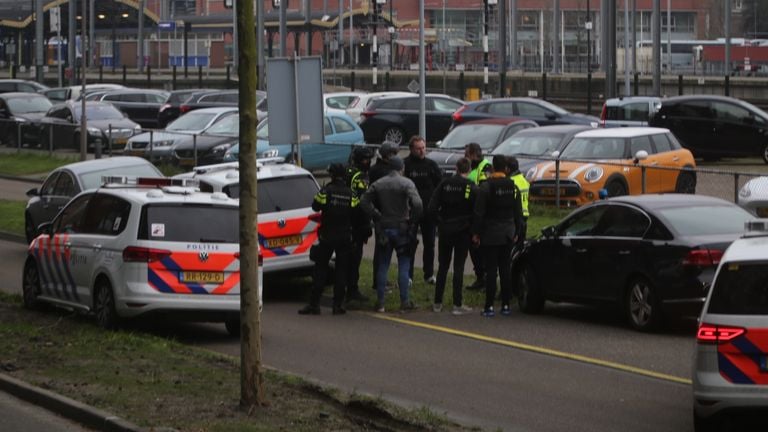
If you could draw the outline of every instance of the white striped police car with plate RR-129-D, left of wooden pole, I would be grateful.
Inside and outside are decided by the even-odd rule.
[[[193,181],[105,178],[29,245],[24,305],[93,313],[105,328],[170,314],[239,332],[239,206]]]

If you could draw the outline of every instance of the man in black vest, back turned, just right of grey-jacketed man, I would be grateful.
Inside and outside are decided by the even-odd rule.
[[[440,238],[437,243],[437,281],[435,303],[432,310],[443,310],[443,293],[453,255],[453,309],[454,315],[471,312],[464,306],[464,262],[471,241],[470,226],[477,196],[477,186],[469,179],[469,159],[456,161],[456,174],[442,181],[432,194],[428,210],[438,220]]]

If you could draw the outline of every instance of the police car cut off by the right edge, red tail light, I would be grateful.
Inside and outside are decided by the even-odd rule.
[[[699,318],[693,361],[696,431],[765,427],[768,415],[768,219],[726,250]],[[762,419],[762,420],[760,420]],[[745,424],[741,424],[745,423]]]

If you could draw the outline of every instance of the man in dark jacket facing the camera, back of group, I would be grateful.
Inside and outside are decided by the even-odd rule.
[[[432,198],[432,192],[441,181],[443,181],[443,171],[437,165],[437,162],[428,159],[427,142],[418,135],[411,137],[408,142],[408,148],[411,153],[403,161],[405,164],[405,176],[413,181],[416,190],[419,191],[419,197],[424,205],[429,203]],[[424,270],[424,281],[429,284],[435,283],[435,232],[437,226],[434,218],[425,213],[418,221],[417,227],[421,231],[422,242],[422,266]],[[411,233],[413,237],[413,246],[411,247],[411,269],[408,272],[409,281],[413,280],[413,263],[416,258],[416,232]]]

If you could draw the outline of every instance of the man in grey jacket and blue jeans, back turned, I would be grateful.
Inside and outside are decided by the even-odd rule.
[[[411,236],[416,221],[423,212],[419,192],[413,181],[403,177],[403,160],[393,156],[389,160],[392,171],[368,187],[360,206],[373,219],[376,227],[377,247],[381,259],[376,272],[376,310],[384,312],[384,288],[392,251],[397,253],[397,280],[400,288],[400,311],[413,309],[408,293],[408,271],[411,263]]]

